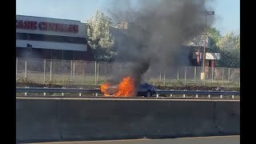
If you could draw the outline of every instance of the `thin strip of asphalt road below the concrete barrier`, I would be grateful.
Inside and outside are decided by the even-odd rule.
[[[194,138],[168,138],[168,139],[129,139],[113,141],[83,141],[83,142],[40,142],[34,144],[240,144],[240,135]]]

